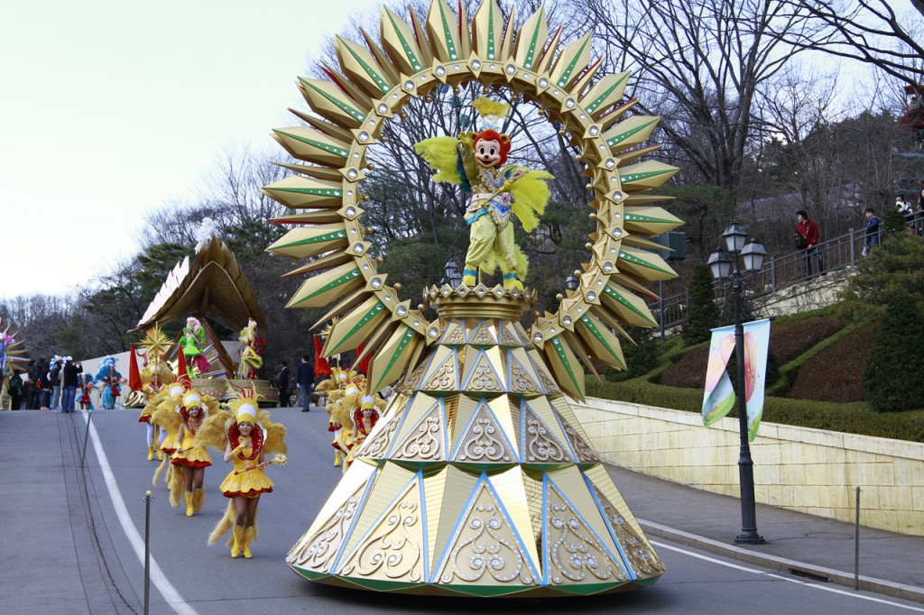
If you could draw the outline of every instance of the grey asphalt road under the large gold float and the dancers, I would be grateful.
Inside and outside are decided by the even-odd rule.
[[[75,416],[62,438],[79,451],[86,433],[84,416]],[[924,605],[892,597],[814,584],[771,573],[702,551],[654,541],[667,566],[655,585],[614,596],[556,599],[437,599],[342,590],[310,583],[293,573],[286,551],[308,529],[340,478],[332,466],[327,415],[298,409],[273,411],[286,425],[289,463],[271,466],[274,492],[260,503],[260,538],[251,544],[253,560],[232,560],[224,541],[207,546],[213,525],[225,510],[217,485],[230,467],[217,462],[206,470],[207,499],[201,513],[188,518],[171,508],[164,481],[152,488],[155,462],[146,460],[144,428],[132,411],[92,415],[87,464],[68,481],[68,500],[83,501],[91,517],[89,537],[75,537],[87,605],[75,597],[68,612],[141,612],[145,534],[145,492],[152,491],[152,613],[899,613],[924,612]],[[619,485],[617,485],[619,487]],[[624,493],[633,500],[644,493]],[[78,525],[75,525],[78,526]],[[83,547],[81,547],[83,545]],[[88,546],[89,545],[89,546]],[[91,557],[89,551],[95,552]],[[115,604],[115,607],[113,605]],[[43,609],[35,612],[45,615]]]

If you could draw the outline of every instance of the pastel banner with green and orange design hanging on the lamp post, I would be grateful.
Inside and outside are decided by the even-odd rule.
[[[770,320],[744,323],[745,404],[748,412],[748,440],[754,440],[763,414],[767,352],[770,348]],[[702,398],[702,422],[710,426],[735,407],[735,389],[725,367],[735,350],[735,327],[712,330],[706,388]]]

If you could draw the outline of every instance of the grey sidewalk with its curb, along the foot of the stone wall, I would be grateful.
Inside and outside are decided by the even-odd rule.
[[[737,498],[614,465],[606,469],[651,540],[663,537],[784,573],[855,586],[853,524],[758,504],[758,533],[766,543],[736,545],[741,532]],[[924,537],[862,525],[859,536],[860,589],[924,602]]]

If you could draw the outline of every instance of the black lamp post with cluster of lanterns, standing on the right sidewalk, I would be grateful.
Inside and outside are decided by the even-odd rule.
[[[738,431],[741,436],[741,450],[738,456],[738,480],[741,484],[741,534],[735,538],[737,543],[752,545],[762,544],[763,537],[757,533],[757,504],[754,500],[754,462],[750,456],[748,444],[748,408],[745,403],[745,332],[741,322],[741,269],[738,266],[740,257],[745,271],[754,273],[763,267],[763,259],[767,256],[764,249],[754,238],[746,244],[748,229],[738,223],[732,223],[722,234],[725,238],[727,252],[720,247],[712,252],[709,258],[709,267],[712,277],[716,280],[726,280],[732,277],[732,292],[735,295],[735,357],[737,360],[738,378],[736,380],[736,396],[738,398]]]

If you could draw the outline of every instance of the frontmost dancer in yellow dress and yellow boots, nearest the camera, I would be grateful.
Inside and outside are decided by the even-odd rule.
[[[248,394],[249,393],[249,394]],[[221,490],[228,498],[225,516],[215,525],[209,544],[234,528],[231,557],[253,557],[250,541],[257,538],[257,506],[264,493],[273,491],[273,481],[263,468],[269,464],[285,464],[286,428],[270,421],[270,413],[260,410],[252,392],[242,392],[228,403],[234,416],[225,421],[225,463],[234,469],[225,476]],[[274,459],[268,452],[279,452]]]

